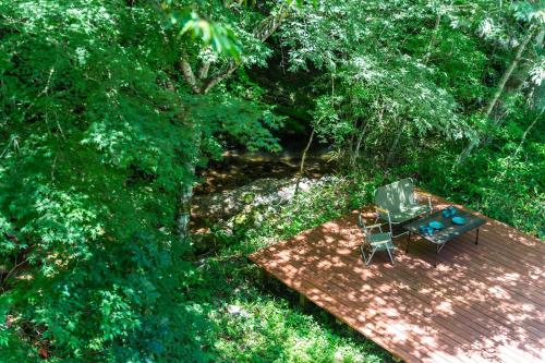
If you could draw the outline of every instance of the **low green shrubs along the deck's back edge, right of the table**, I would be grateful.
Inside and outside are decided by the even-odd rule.
[[[413,160],[401,172],[417,172],[437,194],[544,238],[543,132],[535,130],[534,136],[522,140],[525,130],[521,128],[528,128],[535,117],[540,114],[510,117],[496,132],[495,143],[480,149],[456,172],[451,168],[455,156],[448,149],[427,156],[436,164]],[[413,157],[421,159],[422,155]]]

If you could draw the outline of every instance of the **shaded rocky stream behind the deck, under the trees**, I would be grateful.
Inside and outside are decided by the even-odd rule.
[[[280,153],[228,150],[219,161],[197,170],[199,184],[194,189],[192,219],[193,232],[207,231],[210,220],[225,219],[237,214],[247,204],[243,195],[251,191],[256,198],[278,198],[299,176],[301,158],[306,145],[292,142]],[[304,165],[305,183],[334,171],[335,162],[328,160],[327,149],[310,148]],[[288,187],[288,190],[287,190]]]

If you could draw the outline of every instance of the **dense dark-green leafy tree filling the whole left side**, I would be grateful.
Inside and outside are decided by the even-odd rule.
[[[10,1],[0,14],[5,354],[182,360],[198,348],[178,343],[192,273],[181,186],[229,137],[277,148],[265,126],[279,119],[225,90],[187,94],[147,4]]]

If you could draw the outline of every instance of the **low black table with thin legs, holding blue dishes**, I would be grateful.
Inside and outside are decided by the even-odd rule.
[[[409,253],[409,244],[411,242],[411,235],[412,234],[417,234],[422,237],[424,240],[432,242],[435,244],[435,261],[434,261],[434,267],[437,267],[437,259],[439,252],[443,250],[445,244],[447,244],[448,241],[467,233],[471,230],[476,229],[475,231],[475,244],[479,244],[479,229],[481,226],[483,226],[486,220],[484,218],[477,217],[469,211],[455,208],[456,209],[456,216],[460,216],[467,219],[465,223],[463,225],[455,225],[451,221],[451,217],[445,218],[443,217],[443,210],[435,211],[427,217],[423,217],[421,219],[417,219],[415,221],[412,221],[405,226],[403,226],[403,229],[405,229],[409,232],[409,237],[407,239],[407,247],[405,252]],[[444,223],[444,228],[439,231],[436,231],[433,235],[424,234],[420,232],[420,226],[422,225],[428,225],[431,221],[437,220]]]

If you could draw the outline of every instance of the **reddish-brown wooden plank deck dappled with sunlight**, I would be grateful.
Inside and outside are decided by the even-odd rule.
[[[434,206],[448,205],[435,198]],[[364,214],[371,217],[370,213]],[[545,362],[545,244],[496,220],[435,246],[404,237],[365,266],[358,211],[250,258],[407,362]]]

